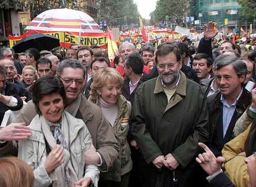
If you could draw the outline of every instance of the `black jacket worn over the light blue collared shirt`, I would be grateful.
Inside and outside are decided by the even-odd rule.
[[[246,89],[243,89],[242,95],[237,101],[236,110],[229,123],[228,130],[223,138],[223,103],[221,102],[221,92],[210,95],[207,98],[210,124],[210,149],[215,156],[221,156],[221,150],[225,143],[233,138],[233,129],[237,119],[241,117],[247,106],[251,103],[251,95]]]

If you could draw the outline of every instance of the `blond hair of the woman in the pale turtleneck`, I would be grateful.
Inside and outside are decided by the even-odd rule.
[[[100,95],[98,91],[100,91],[101,87],[105,86],[106,81],[118,82],[120,86],[122,86],[122,76],[120,73],[114,68],[101,68],[97,71],[95,76],[93,77],[93,82],[91,85],[90,95],[92,100],[96,100]]]

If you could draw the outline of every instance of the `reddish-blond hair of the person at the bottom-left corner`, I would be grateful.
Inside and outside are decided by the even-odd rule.
[[[0,183],[2,187],[32,187],[34,174],[31,167],[17,157],[0,158]]]

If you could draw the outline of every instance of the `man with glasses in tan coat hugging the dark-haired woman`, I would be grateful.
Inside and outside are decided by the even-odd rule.
[[[79,60],[72,58],[63,60],[56,74],[61,79],[66,92],[66,111],[72,116],[82,119],[92,135],[96,152],[89,150],[90,153],[85,154],[85,162],[87,164],[98,164],[101,171],[107,171],[112,167],[118,156],[117,141],[111,126],[103,117],[101,109],[90,103],[81,93],[85,82],[85,70],[82,64]],[[15,122],[24,122],[29,125],[35,116],[35,105],[30,101],[20,111]],[[79,148],[77,151],[79,151]]]

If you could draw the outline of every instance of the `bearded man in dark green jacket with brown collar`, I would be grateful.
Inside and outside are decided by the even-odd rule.
[[[162,44],[155,61],[159,76],[137,89],[131,120],[143,186],[191,186],[198,142],[208,140],[204,91],[180,71],[176,45]]]

